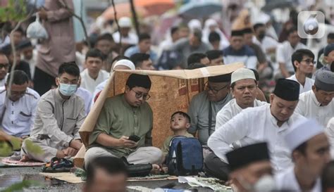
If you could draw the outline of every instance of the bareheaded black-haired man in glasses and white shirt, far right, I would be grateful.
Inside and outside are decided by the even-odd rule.
[[[314,84],[314,79],[307,77],[307,75],[312,74],[316,64],[314,53],[309,51],[309,49],[298,49],[295,53],[292,53],[291,61],[296,73],[287,79],[294,80],[300,84],[300,94],[310,91]]]

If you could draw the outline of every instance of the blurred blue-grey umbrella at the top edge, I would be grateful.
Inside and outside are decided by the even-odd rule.
[[[223,10],[220,1],[214,0],[192,0],[180,7],[179,13],[190,18],[204,18],[213,13]]]

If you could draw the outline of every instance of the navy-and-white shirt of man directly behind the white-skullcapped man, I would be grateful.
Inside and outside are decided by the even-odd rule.
[[[255,52],[246,45],[238,51],[235,51],[232,46],[228,46],[223,50],[223,58],[225,64],[243,62],[245,63],[246,68],[256,69],[257,58]]]

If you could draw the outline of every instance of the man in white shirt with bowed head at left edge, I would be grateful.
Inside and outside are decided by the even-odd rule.
[[[13,84],[9,89],[9,79]],[[29,78],[22,70],[14,70],[4,87],[0,87],[0,123],[11,136],[25,138],[34,125],[39,94],[28,88]]]

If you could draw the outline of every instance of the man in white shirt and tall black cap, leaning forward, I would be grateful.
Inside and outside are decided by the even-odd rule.
[[[236,141],[240,141],[240,146],[266,141],[272,154],[273,169],[280,171],[292,165],[283,136],[292,124],[304,119],[302,115],[294,113],[299,98],[299,84],[289,79],[278,79],[270,98],[271,104],[242,110],[210,136],[208,146],[218,158],[205,160],[206,165],[221,171],[209,174],[218,178],[227,176],[225,154],[231,150],[230,144]]]

